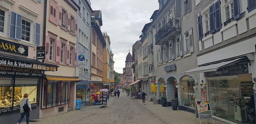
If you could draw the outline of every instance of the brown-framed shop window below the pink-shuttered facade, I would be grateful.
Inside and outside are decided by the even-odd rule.
[[[44,81],[42,85],[42,106],[51,108],[69,103],[69,81]]]

